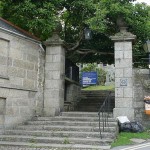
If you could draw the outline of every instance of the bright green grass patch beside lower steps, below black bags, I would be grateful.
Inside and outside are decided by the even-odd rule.
[[[119,133],[117,139],[111,144],[111,146],[116,147],[133,144],[133,142],[130,141],[132,138],[150,139],[150,133],[147,131],[142,133],[121,132]]]

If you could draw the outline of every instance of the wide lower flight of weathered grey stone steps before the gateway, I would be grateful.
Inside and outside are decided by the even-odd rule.
[[[6,129],[0,135],[0,146],[106,150],[110,149],[117,132],[117,122],[111,117],[101,139],[98,113],[62,112],[60,116],[35,117],[23,125]]]

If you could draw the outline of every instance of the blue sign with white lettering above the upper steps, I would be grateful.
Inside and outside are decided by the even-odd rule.
[[[82,72],[82,85],[97,84],[97,72]]]

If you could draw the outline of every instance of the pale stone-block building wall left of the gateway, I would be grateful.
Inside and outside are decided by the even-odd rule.
[[[0,30],[0,128],[42,113],[45,54],[39,44]]]

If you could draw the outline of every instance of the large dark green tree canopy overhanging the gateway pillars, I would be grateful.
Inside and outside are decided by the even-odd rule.
[[[128,30],[137,35],[134,54],[143,53],[142,44],[150,39],[150,7],[135,0],[1,0],[0,15],[42,40],[51,36],[60,21],[61,37],[67,43],[67,57],[75,62],[113,62],[113,42],[119,32],[116,20],[123,16]],[[92,39],[85,40],[85,27]],[[138,57],[134,57],[137,61]]]

